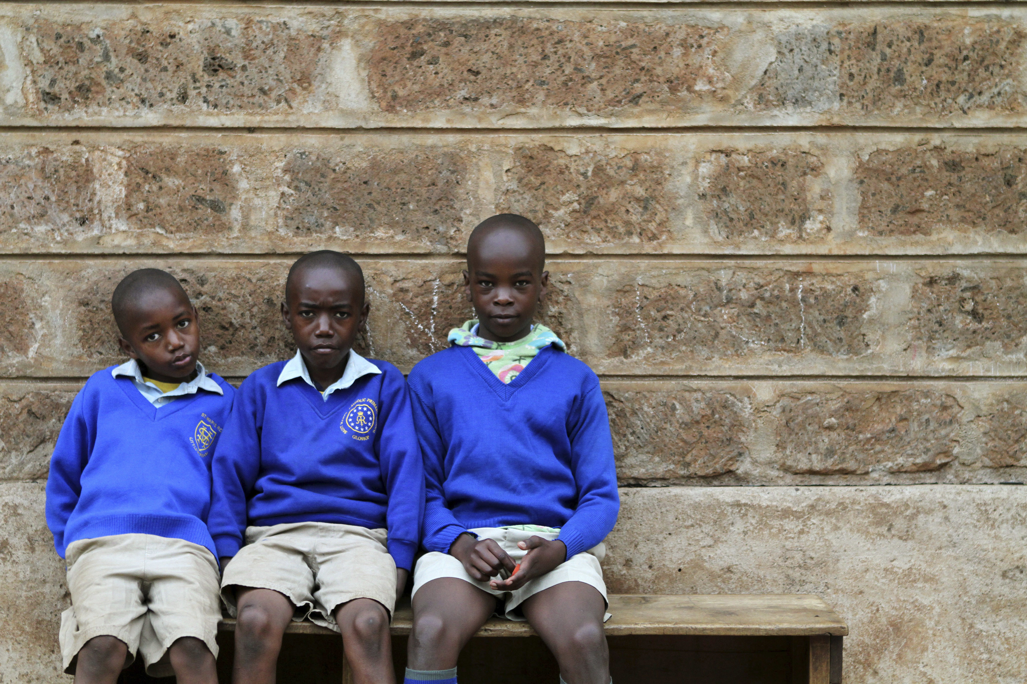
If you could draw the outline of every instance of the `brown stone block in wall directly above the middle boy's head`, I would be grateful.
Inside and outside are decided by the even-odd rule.
[[[283,156],[278,227],[291,238],[463,248],[461,228],[476,190],[466,153],[354,147],[331,154],[311,146]]]

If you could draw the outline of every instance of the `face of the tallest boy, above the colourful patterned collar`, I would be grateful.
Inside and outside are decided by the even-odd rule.
[[[538,245],[517,231],[495,230],[468,247],[464,292],[478,316],[478,334],[492,341],[521,339],[531,331],[549,273]]]

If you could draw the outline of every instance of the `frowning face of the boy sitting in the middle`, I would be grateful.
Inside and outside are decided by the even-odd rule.
[[[346,360],[368,320],[358,278],[343,269],[310,267],[293,274],[281,318],[311,371],[330,371]]]

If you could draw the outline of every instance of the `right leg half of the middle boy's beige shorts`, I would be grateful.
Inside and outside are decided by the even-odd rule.
[[[314,610],[310,619],[335,627],[336,608],[355,599],[372,599],[392,614],[395,608],[395,561],[388,553],[385,529],[317,523],[313,547]]]

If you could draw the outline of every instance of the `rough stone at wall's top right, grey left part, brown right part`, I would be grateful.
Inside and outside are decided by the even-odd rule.
[[[1025,32],[999,17],[909,15],[778,33],[777,56],[747,94],[756,111],[931,119],[1021,114]]]

